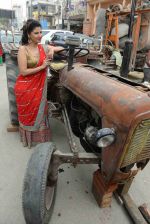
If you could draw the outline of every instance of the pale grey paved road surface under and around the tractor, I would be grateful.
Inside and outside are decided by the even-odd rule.
[[[7,133],[9,124],[5,65],[0,67],[0,224],[25,224],[22,214],[22,183],[28,159],[34,148],[24,148],[18,133]],[[53,140],[68,151],[63,125],[51,122]],[[113,198],[112,207],[100,209],[91,193],[93,165],[76,169],[63,165],[59,174],[56,203],[51,224],[130,224],[124,208]],[[138,205],[150,202],[150,164],[135,179],[130,190]]]

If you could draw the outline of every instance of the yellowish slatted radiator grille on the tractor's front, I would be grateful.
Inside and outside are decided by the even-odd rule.
[[[121,167],[150,158],[150,120],[142,121],[134,130],[125,149]]]

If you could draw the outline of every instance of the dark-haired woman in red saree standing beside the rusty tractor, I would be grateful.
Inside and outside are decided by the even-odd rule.
[[[19,131],[24,146],[51,139],[47,106],[47,66],[53,52],[62,48],[49,47],[48,54],[40,45],[41,25],[28,20],[23,27],[22,46],[18,52],[20,75],[15,85]]]

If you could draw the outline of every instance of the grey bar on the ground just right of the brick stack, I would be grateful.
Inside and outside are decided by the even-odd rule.
[[[129,194],[121,195],[121,199],[135,224],[147,224]]]

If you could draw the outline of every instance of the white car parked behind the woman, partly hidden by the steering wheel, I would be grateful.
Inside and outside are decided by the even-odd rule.
[[[53,38],[54,34],[63,34],[64,35],[71,35],[73,34],[72,31],[68,31],[68,30],[51,30],[49,31],[49,33],[47,33],[46,35],[44,35],[42,37],[42,40],[41,40],[41,44],[46,44],[47,41],[51,41],[51,39]]]

